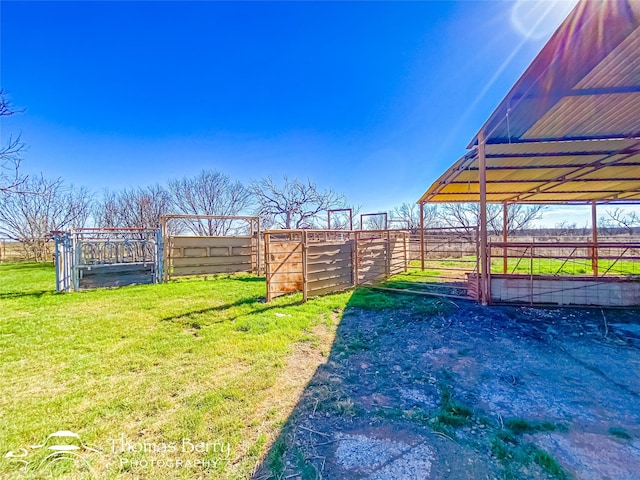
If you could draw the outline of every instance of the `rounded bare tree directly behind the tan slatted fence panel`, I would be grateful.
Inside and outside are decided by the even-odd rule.
[[[227,175],[203,170],[195,177],[169,181],[169,193],[176,213],[188,215],[236,216],[251,205],[251,192]],[[227,235],[234,223],[227,220],[185,221],[196,235]]]

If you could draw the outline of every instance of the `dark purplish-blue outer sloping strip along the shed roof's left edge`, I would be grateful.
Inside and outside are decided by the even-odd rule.
[[[531,127],[563,97],[590,93],[573,90],[585,77],[592,74],[602,81],[602,77],[607,76],[607,72],[599,70],[601,63],[609,59],[608,67],[611,68],[616,63],[628,61],[630,54],[637,55],[635,43],[628,38],[636,35],[640,26],[639,5],[637,0],[582,0],[578,3],[484,123],[480,129],[484,141],[487,144],[519,141],[527,132],[528,138],[532,138]],[[630,43],[626,49],[622,45],[625,41]],[[616,51],[620,54],[612,56]],[[611,81],[631,82],[634,75],[624,72],[624,68],[619,67]],[[628,86],[637,88],[638,82],[625,85]],[[625,90],[638,91],[634,88]],[[561,130],[554,129],[554,132]],[[467,148],[478,144],[479,135]],[[539,140],[550,138],[570,140],[573,137],[562,134],[538,137]]]

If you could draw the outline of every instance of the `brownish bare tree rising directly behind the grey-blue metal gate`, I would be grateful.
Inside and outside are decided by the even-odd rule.
[[[169,213],[171,195],[161,185],[107,192],[95,209],[100,227],[159,228],[160,217]]]

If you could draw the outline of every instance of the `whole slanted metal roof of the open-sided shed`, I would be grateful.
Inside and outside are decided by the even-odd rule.
[[[581,1],[480,132],[487,201],[640,201],[640,2]],[[479,201],[478,139],[419,202]]]

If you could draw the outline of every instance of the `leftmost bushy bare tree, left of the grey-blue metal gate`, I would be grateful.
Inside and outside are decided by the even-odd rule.
[[[22,242],[29,258],[44,260],[52,231],[85,226],[92,196],[42,176],[22,181],[19,191],[0,196],[0,234]]]

